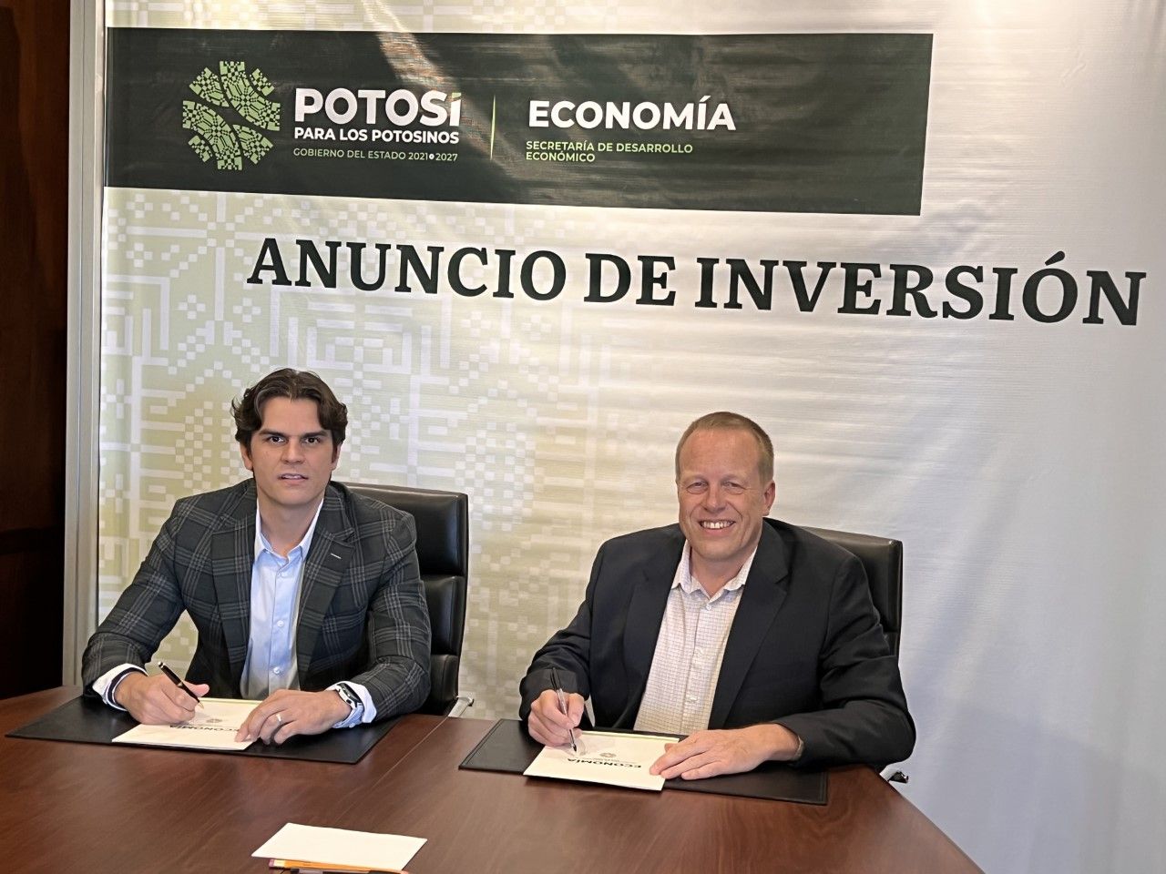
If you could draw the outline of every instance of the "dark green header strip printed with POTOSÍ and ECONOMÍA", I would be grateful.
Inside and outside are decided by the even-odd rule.
[[[113,28],[107,181],[918,214],[930,44]]]

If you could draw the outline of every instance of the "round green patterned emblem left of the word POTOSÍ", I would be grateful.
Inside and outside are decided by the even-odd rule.
[[[219,170],[241,170],[244,156],[258,164],[272,150],[261,132],[280,129],[280,105],[267,99],[274,87],[259,70],[248,75],[243,61],[220,61],[218,73],[204,68],[190,90],[205,103],[182,101],[182,126],[195,134],[190,148],[204,162],[213,157]],[[233,108],[246,124],[227,121],[216,106]]]

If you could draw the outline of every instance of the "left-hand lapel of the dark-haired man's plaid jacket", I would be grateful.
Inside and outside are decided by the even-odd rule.
[[[236,691],[251,637],[251,570],[255,563],[255,484],[220,516],[211,535],[211,576]]]

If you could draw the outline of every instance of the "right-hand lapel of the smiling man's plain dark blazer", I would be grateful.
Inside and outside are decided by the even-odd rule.
[[[761,526],[761,540],[757,555],[749,569],[749,578],[742,591],[740,604],[733,616],[725,655],[721,661],[721,675],[712,696],[709,728],[723,728],[729,711],[737,699],[745,674],[757,658],[757,651],[765,640],[773,620],[778,615],[789,591],[789,557],[785,543],[768,523]]]

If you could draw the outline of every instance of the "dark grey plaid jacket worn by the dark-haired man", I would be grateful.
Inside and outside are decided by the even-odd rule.
[[[300,588],[300,688],[349,679],[368,689],[377,718],[416,710],[429,693],[429,612],[413,517],[353,494],[324,493]],[[119,664],[145,664],[183,611],[198,629],[188,678],[241,697],[251,634],[255,485],[174,505],[133,583],[85,648],[86,691]]]

